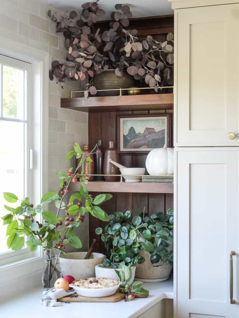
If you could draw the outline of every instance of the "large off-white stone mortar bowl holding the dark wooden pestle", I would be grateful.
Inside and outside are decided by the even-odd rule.
[[[60,255],[62,276],[71,275],[75,279],[95,277],[95,266],[101,264],[105,255],[92,253],[90,259],[84,259],[87,252],[69,252]]]

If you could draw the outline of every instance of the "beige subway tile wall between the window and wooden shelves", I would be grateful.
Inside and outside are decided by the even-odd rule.
[[[30,47],[49,53],[49,66],[54,59],[64,62],[65,41],[62,33],[55,32],[55,22],[47,16],[47,11],[59,17],[62,12],[36,0],[0,0],[0,35]],[[1,45],[1,44],[0,44]],[[85,83],[83,83],[85,84]],[[70,91],[81,89],[81,83],[66,80],[60,85],[49,81],[48,96],[48,190],[59,190],[56,172],[65,173],[74,166],[73,160],[66,162],[66,153],[73,144],[88,142],[88,115],[60,108],[60,99],[70,97]],[[83,86],[83,85],[82,85]],[[51,211],[55,210],[50,205]],[[64,210],[61,212],[65,215]],[[76,235],[82,239],[83,249],[88,248],[88,219],[77,228]],[[69,249],[74,250],[74,249]]]

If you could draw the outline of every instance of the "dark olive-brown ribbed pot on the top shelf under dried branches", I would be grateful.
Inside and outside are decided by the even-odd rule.
[[[134,76],[129,75],[123,71],[123,76],[115,75],[114,70],[106,70],[94,77],[94,86],[97,90],[100,89],[115,89],[115,88],[129,88],[134,86]],[[117,96],[120,91],[97,92],[96,96]],[[127,95],[127,91],[122,91],[122,95]]]

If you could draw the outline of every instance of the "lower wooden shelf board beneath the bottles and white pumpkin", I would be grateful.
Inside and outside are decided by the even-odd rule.
[[[79,191],[80,182],[70,183],[69,191]],[[89,192],[173,193],[173,183],[91,181]]]

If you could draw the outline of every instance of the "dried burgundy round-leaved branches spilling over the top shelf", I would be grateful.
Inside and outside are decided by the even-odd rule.
[[[131,87],[132,82],[125,74],[144,82],[156,92],[159,86],[173,84],[173,33],[169,33],[163,43],[151,35],[137,37],[137,30],[127,29],[132,17],[130,7],[121,4],[116,4],[116,11],[111,13],[109,29],[101,31],[95,23],[105,11],[99,8],[98,1],[83,3],[82,9],[80,16],[75,10],[66,11],[56,22],[56,32],[63,32],[68,54],[66,63],[52,62],[50,80],[55,77],[61,83],[65,78],[88,78],[85,97],[89,92],[91,95],[97,93],[94,78],[107,70],[114,70],[115,79],[122,78],[122,81],[119,83],[111,78],[105,83],[105,88],[115,81],[118,82],[115,88],[124,88],[127,82],[125,88]],[[48,16],[56,20],[50,10]],[[106,77],[111,77],[110,73],[105,72],[98,85]]]

